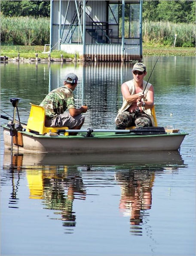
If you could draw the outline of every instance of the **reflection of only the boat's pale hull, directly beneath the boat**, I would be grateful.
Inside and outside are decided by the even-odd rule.
[[[17,156],[13,154],[13,157]],[[122,164],[183,164],[179,151],[132,151],[113,153],[39,153],[24,152],[22,166],[29,165],[122,165]],[[12,164],[10,151],[4,152],[4,166]]]

